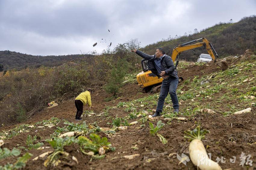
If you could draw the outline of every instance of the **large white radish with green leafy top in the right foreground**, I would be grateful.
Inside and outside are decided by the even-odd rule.
[[[218,163],[208,157],[204,144],[201,141],[208,132],[208,130],[200,130],[200,126],[185,132],[188,136],[184,137],[192,140],[189,144],[190,160],[201,170],[222,170]]]

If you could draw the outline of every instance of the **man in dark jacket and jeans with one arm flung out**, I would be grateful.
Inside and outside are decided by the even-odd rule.
[[[158,77],[163,78],[156,113],[152,115],[152,117],[160,116],[160,113],[163,111],[164,100],[167,97],[168,92],[170,93],[173,102],[173,112],[178,113],[179,102],[176,89],[178,86],[179,77],[178,72],[176,71],[173,64],[172,58],[168,55],[165,55],[165,51],[161,47],[156,49],[155,55],[148,55],[137,49],[131,51],[148,60],[148,69]]]

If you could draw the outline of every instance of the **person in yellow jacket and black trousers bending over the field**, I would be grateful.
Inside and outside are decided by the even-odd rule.
[[[83,120],[81,118],[82,114],[83,114],[83,105],[85,105],[86,103],[88,103],[89,109],[91,109],[92,106],[92,101],[91,101],[91,92],[92,89],[88,89],[87,91],[84,91],[82,93],[80,93],[76,99],[75,99],[75,105],[76,105],[76,121],[81,121]]]

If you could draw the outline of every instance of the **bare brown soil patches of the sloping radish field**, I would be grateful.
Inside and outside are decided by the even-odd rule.
[[[232,65],[233,63],[229,63]],[[255,71],[255,67],[252,67]],[[203,66],[199,65],[191,65],[186,68],[180,69],[179,76],[182,76],[184,80],[193,79],[195,75],[201,78],[205,75],[210,75],[211,73],[216,73],[220,71],[220,68],[215,63],[210,63],[209,66],[205,64]],[[248,73],[249,77],[252,77],[254,72]],[[237,87],[239,89],[246,89],[248,86],[253,86],[251,84],[241,84]],[[187,87],[187,89],[186,89]],[[190,91],[190,86],[186,85],[182,82],[179,84],[178,89],[183,91]],[[205,87],[203,87],[205,88]],[[194,89],[193,89],[194,90]],[[69,153],[68,159],[62,159],[61,163],[57,167],[48,166],[45,167],[43,165],[45,158],[39,158],[36,161],[32,161],[32,159],[39,154],[42,154],[46,151],[53,151],[48,142],[45,142],[44,139],[50,137],[52,133],[55,132],[57,127],[64,127],[64,121],[61,121],[57,126],[52,128],[32,128],[29,132],[20,133],[17,136],[8,139],[8,143],[4,145],[4,147],[12,149],[13,147],[23,146],[26,147],[26,139],[28,135],[37,135],[39,136],[39,141],[43,142],[43,146],[49,146],[50,148],[46,148],[44,150],[36,150],[32,149],[28,152],[33,154],[32,159],[30,159],[25,169],[29,170],[37,170],[37,169],[191,169],[196,170],[196,166],[192,164],[192,162],[187,162],[186,165],[180,163],[180,160],[176,158],[178,154],[186,154],[189,156],[189,142],[184,139],[184,131],[188,129],[194,129],[196,124],[201,124],[203,129],[210,130],[210,133],[205,135],[205,139],[202,140],[204,146],[207,148],[207,153],[211,154],[211,159],[216,161],[218,158],[223,158],[222,161],[219,162],[219,165],[222,169],[256,169],[256,107],[251,107],[251,112],[245,113],[242,115],[228,115],[223,116],[222,112],[229,110],[229,106],[236,106],[238,108],[242,108],[242,104],[237,102],[235,99],[220,99],[223,94],[228,94],[227,89],[221,89],[219,92],[212,94],[211,98],[202,98],[201,100],[196,100],[200,105],[206,106],[208,104],[209,107],[215,106],[215,111],[218,109],[216,114],[201,114],[195,113],[193,116],[185,115],[185,111],[189,107],[195,107],[191,105],[190,102],[192,100],[187,100],[183,102],[184,104],[180,105],[180,110],[182,111],[179,117],[186,117],[188,121],[177,121],[173,119],[171,122],[167,122],[164,118],[160,117],[153,124],[157,124],[158,120],[161,120],[165,123],[163,129],[159,132],[167,139],[167,144],[162,144],[157,136],[151,136],[149,133],[149,125],[148,121],[145,122],[145,126],[141,126],[142,123],[138,123],[136,125],[129,126],[127,130],[117,131],[115,135],[108,136],[105,133],[101,132],[99,135],[101,137],[106,136],[108,141],[111,142],[112,146],[116,148],[114,152],[106,153],[106,157],[104,159],[92,159],[88,155],[84,155],[79,151],[79,145],[72,144],[70,146],[66,146],[64,149]],[[106,106],[112,107],[107,116],[95,116],[85,117],[84,121],[86,124],[97,122],[99,127],[108,127],[112,128],[111,118],[115,118],[116,115],[118,117],[125,117],[130,112],[126,112],[123,108],[113,108],[117,106],[119,102],[130,102],[136,99],[140,99],[143,97],[150,96],[151,94],[141,93],[141,89],[138,87],[136,83],[126,84],[120,93],[120,97],[117,100],[113,100],[110,102],[105,102],[105,98],[109,97],[109,94],[106,94],[104,91],[95,91],[92,93],[92,104],[93,104],[93,112],[95,114],[100,114],[104,112]],[[178,95],[179,96],[179,95]],[[223,103],[221,103],[223,102]],[[255,102],[255,100],[254,100]],[[218,106],[217,106],[218,104]],[[138,104],[139,107],[140,104]],[[237,106],[239,105],[239,106]],[[172,105],[171,105],[172,106]],[[247,107],[247,106],[246,106]],[[124,107],[125,108],[125,107]],[[216,109],[217,108],[217,109]],[[88,107],[84,107],[85,110]],[[145,106],[144,110],[155,109],[152,108],[151,105]],[[35,124],[38,121],[48,120],[52,117],[56,117],[59,119],[65,119],[69,122],[78,123],[74,120],[76,113],[76,108],[74,105],[74,101],[68,101],[65,103],[59,103],[58,106],[53,107],[51,109],[44,109],[38,114],[36,114],[31,120],[25,122],[25,124]],[[149,113],[152,114],[152,113]],[[138,118],[139,119],[139,118]],[[129,119],[129,123],[136,121],[138,119]],[[82,122],[79,122],[82,123]],[[2,130],[9,130],[14,128],[12,127],[4,127]],[[135,146],[138,149],[133,149]],[[22,151],[22,154],[26,153]],[[169,156],[169,154],[174,153],[173,156]],[[177,153],[177,154],[176,154]],[[251,155],[250,158],[247,159],[247,163],[250,163],[249,160],[252,160],[252,166],[248,165],[239,165],[241,163],[241,154],[245,153],[245,156]],[[128,160],[124,158],[125,155],[131,154],[139,154],[139,156],[135,157],[132,160]],[[71,158],[75,156],[78,160],[78,164],[73,161]],[[235,163],[231,163],[230,159],[236,157]],[[6,159],[0,160],[0,165],[5,165],[6,163],[14,163],[16,159],[13,157],[8,157]]]

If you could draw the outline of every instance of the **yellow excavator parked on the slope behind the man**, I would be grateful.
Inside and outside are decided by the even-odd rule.
[[[203,42],[199,42],[199,43],[195,43],[195,44],[190,44],[190,43],[194,43],[196,41],[202,40]],[[188,45],[190,44],[190,45]],[[211,43],[204,37],[197,39],[197,40],[192,40],[189,41],[187,43],[178,45],[176,47],[173,48],[173,52],[172,52],[172,60],[173,62],[175,61],[176,57],[177,61],[176,61],[176,65],[175,68],[177,68],[178,64],[179,64],[179,58],[180,58],[180,54],[183,51],[189,50],[189,49],[193,49],[193,48],[198,48],[204,46],[204,48],[207,50],[207,52],[211,55],[211,58],[214,60],[214,62],[216,61],[216,58],[218,58],[218,54],[215,51],[215,49],[213,48],[213,46],[211,45]],[[216,58],[214,56],[214,53],[216,55]],[[141,65],[142,65],[142,72],[140,72],[139,74],[137,74],[137,82],[139,84],[139,87],[143,88],[144,91],[147,93],[149,91],[151,91],[152,93],[157,93],[160,91],[161,89],[161,85],[162,85],[162,81],[163,78],[162,77],[158,77],[157,75],[153,74],[149,69],[148,69],[148,61],[143,59],[141,61]],[[224,62],[220,62],[218,63],[218,65],[220,65],[220,67],[228,67],[227,63]],[[179,77],[179,82],[183,81],[182,77]]]

